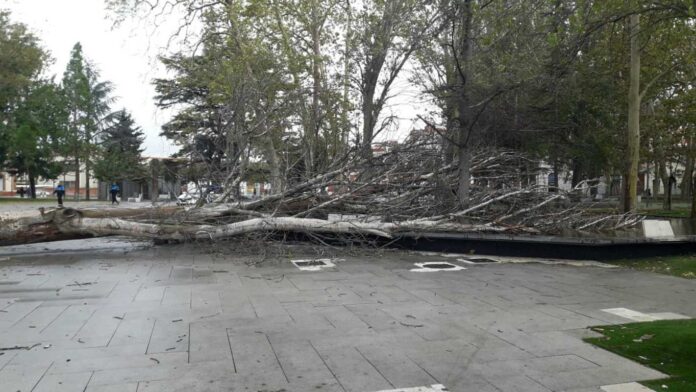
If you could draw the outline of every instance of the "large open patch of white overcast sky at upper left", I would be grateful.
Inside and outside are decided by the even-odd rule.
[[[169,115],[159,111],[153,100],[151,79],[162,74],[156,56],[166,45],[164,32],[147,32],[142,23],[126,23],[112,29],[102,0],[0,0],[0,9],[11,12],[15,22],[28,25],[55,59],[49,69],[60,81],[76,42],[85,57],[114,84],[118,101],[114,109],[133,114],[146,135],[146,156],[168,156],[176,147],[159,136]]]

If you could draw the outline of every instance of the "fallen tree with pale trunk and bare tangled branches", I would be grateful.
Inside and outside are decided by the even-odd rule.
[[[0,221],[0,244],[109,235],[220,240],[274,232],[385,239],[406,232],[534,235],[617,230],[641,220],[634,214],[593,211],[593,204],[583,201],[591,193],[590,181],[565,191],[536,185],[538,175],[546,175],[537,162],[501,150],[474,156],[472,196],[461,208],[456,165],[443,165],[432,151],[405,147],[251,201],[233,200],[233,192],[226,192],[215,203],[193,207],[41,210],[33,217]]]

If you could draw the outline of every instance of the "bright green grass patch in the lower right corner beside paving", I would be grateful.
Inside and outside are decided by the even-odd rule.
[[[642,382],[646,387],[656,391],[696,391],[696,320],[610,325],[592,330],[604,337],[588,338],[586,342],[670,376]]]

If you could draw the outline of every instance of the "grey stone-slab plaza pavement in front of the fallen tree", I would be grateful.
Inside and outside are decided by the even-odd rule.
[[[695,281],[619,268],[208,248],[0,255],[0,390],[601,391],[662,377],[582,341],[630,321],[602,309],[696,316]]]

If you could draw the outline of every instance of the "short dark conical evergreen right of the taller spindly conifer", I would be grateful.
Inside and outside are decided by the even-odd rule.
[[[113,124],[103,133],[94,176],[109,182],[142,181],[146,173],[141,156],[145,136],[125,109],[114,113],[113,117]]]

